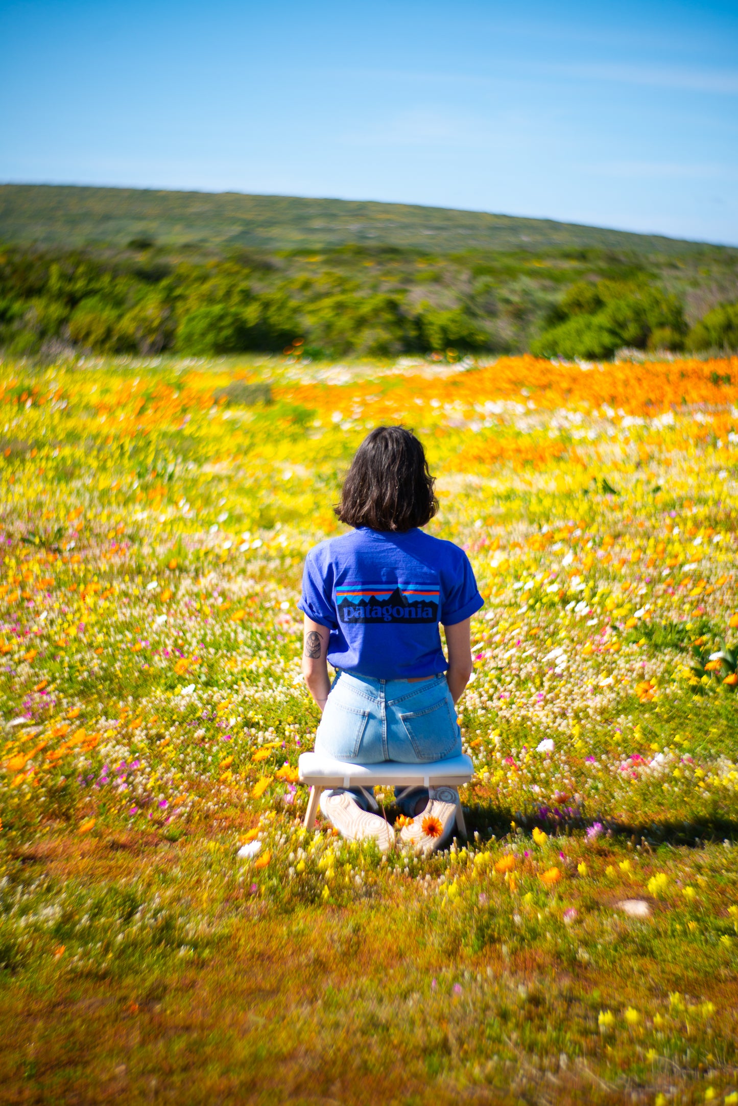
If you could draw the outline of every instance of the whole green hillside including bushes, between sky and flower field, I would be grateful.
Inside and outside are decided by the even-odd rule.
[[[738,249],[545,219],[6,185],[0,243],[0,348],[22,356],[738,346]]]

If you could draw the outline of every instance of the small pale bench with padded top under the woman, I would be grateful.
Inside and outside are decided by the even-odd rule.
[[[450,757],[427,764],[401,764],[383,761],[380,764],[354,764],[337,761],[318,753],[302,753],[299,760],[300,783],[310,785],[310,801],[305,813],[305,830],[312,830],[321,792],[328,787],[460,787],[474,776],[470,757]],[[456,807],[456,827],[466,837],[461,801]]]

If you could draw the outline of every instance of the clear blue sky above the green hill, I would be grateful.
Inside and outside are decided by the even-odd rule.
[[[0,180],[738,244],[738,4],[0,0]]]

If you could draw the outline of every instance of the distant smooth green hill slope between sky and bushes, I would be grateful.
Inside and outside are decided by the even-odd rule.
[[[723,252],[719,247],[657,234],[405,204],[239,192],[0,186],[0,241],[121,248],[131,239],[145,237],[175,249],[246,247],[269,252],[349,243],[392,244],[436,253],[571,248],[668,257]]]

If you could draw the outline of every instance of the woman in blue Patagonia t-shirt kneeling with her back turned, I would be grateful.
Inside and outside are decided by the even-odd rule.
[[[425,534],[438,510],[423,446],[402,426],[364,439],[335,513],[353,531],[315,545],[305,560],[302,671],[323,712],[315,751],[363,764],[424,763],[458,757],[455,702],[471,675],[469,624],[482,606],[469,559]],[[446,632],[448,660],[438,624]],[[328,661],[337,669],[331,686]],[[418,849],[449,836],[455,787],[396,790],[408,820],[401,837]],[[394,830],[365,789],[324,791],[323,815],[343,834]]]

